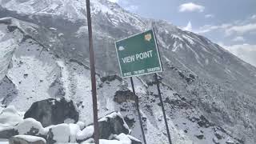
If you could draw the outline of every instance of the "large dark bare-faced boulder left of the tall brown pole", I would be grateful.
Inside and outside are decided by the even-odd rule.
[[[34,118],[46,127],[64,122],[78,122],[79,113],[71,100],[49,98],[34,102],[26,111],[25,118]]]

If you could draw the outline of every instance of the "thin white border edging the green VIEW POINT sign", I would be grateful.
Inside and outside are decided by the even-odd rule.
[[[146,33],[147,31],[150,31],[150,30],[153,31],[153,35],[154,35],[154,44],[155,44],[156,49],[157,49],[158,61],[159,61],[159,64],[160,64],[160,70],[154,71],[154,72],[150,72],[150,73],[134,74],[134,75],[130,75],[130,76],[125,76],[125,77],[124,77],[124,76],[122,75],[122,67],[121,67],[121,64],[120,64],[120,61],[119,61],[117,42],[121,42],[121,41],[123,41],[123,40],[125,40],[125,39],[127,39],[127,38],[132,38],[132,37],[137,36],[137,35],[139,35],[139,34]],[[121,40],[118,40],[118,41],[115,41],[115,42],[114,42],[115,51],[116,51],[116,53],[117,53],[117,55],[118,55],[119,70],[120,70],[120,73],[121,73],[122,78],[130,78],[130,77],[136,77],[136,76],[141,76],[141,75],[146,75],[146,74],[154,74],[154,73],[159,73],[159,72],[162,72],[162,71],[163,71],[163,70],[162,70],[162,62],[161,62],[161,58],[160,58],[160,54],[159,54],[159,50],[158,50],[157,38],[156,38],[155,33],[154,33],[154,28],[152,28],[152,29],[150,29],[150,30],[146,30],[146,31],[144,31],[144,32],[142,32],[142,33],[134,34],[134,35],[131,35],[131,36],[127,37],[127,38],[122,38]]]

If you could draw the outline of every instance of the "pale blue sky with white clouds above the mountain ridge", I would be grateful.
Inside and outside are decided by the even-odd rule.
[[[201,34],[256,66],[256,0],[109,0]]]

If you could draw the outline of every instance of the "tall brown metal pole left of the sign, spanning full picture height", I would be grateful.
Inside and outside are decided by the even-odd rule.
[[[91,78],[91,91],[93,99],[93,112],[94,112],[94,142],[99,144],[99,129],[98,129],[98,106],[97,106],[97,94],[96,94],[96,78],[95,78],[95,67],[94,67],[94,47],[93,47],[93,35],[90,18],[90,0],[86,0],[86,12],[87,12],[87,23],[89,33],[89,50],[90,50],[90,78]]]

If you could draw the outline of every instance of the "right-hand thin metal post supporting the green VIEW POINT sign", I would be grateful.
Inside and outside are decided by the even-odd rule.
[[[167,119],[166,119],[166,111],[165,111],[165,108],[164,108],[163,102],[162,102],[162,95],[161,95],[161,90],[160,90],[160,86],[159,86],[158,74],[155,73],[154,78],[155,78],[155,81],[157,82],[158,95],[159,95],[159,99],[160,99],[161,106],[162,106],[162,114],[163,114],[163,118],[165,119],[165,123],[166,123],[167,137],[168,137],[169,143],[171,144],[170,132],[169,132],[169,127],[168,127],[168,123],[167,123]]]

